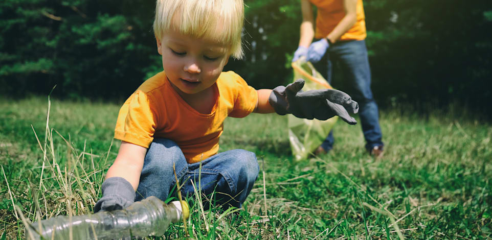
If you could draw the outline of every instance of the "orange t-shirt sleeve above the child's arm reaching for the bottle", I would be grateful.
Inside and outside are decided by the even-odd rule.
[[[150,146],[157,123],[150,101],[149,96],[141,90],[137,90],[126,100],[116,121],[116,139],[144,148]]]

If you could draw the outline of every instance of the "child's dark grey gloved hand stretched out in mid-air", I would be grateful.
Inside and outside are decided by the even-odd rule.
[[[350,113],[359,112],[359,104],[350,96],[335,89],[309,90],[303,92],[304,80],[278,86],[270,94],[269,103],[280,115],[292,113],[299,118],[326,120],[335,115],[354,125],[357,123]]]

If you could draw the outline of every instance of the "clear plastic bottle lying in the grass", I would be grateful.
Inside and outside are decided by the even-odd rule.
[[[185,218],[189,214],[185,206]],[[129,239],[130,236],[162,236],[170,223],[182,220],[179,201],[165,204],[148,197],[122,210],[100,211],[92,215],[59,216],[26,226],[26,239],[86,240]],[[33,239],[34,238],[34,239]]]

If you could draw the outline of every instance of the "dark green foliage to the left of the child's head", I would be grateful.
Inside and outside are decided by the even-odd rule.
[[[153,6],[133,1],[3,1],[2,92],[48,94],[56,84],[54,94],[64,97],[128,95],[154,62],[149,25]]]

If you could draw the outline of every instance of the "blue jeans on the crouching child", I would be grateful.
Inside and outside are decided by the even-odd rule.
[[[202,193],[215,191],[218,204],[241,207],[258,177],[258,161],[252,152],[235,149],[218,153],[200,162],[188,164],[177,144],[169,139],[154,139],[145,155],[135,201],[155,196],[165,201],[176,185],[173,163],[183,196],[193,196],[200,183]],[[201,176],[200,180],[198,179]],[[192,184],[193,181],[193,184]],[[203,198],[205,199],[205,198]]]

